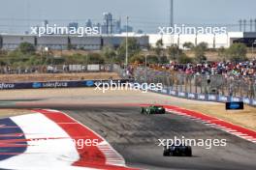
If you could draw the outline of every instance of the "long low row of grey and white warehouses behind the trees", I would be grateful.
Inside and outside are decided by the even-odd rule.
[[[87,50],[100,50],[104,45],[118,47],[124,42],[127,34],[116,35],[95,35],[95,36],[69,36],[69,35],[44,35],[42,37],[31,35],[10,35],[0,34],[0,48],[16,49],[21,42],[30,42],[37,47],[49,47],[51,49],[66,49],[68,44],[77,48]],[[170,44],[178,44],[183,48],[184,42],[192,42],[194,45],[200,42],[207,42],[209,48],[229,47],[233,42],[243,42],[247,46],[252,46],[256,41],[256,32],[229,32],[227,34],[184,34],[184,35],[160,35],[160,34],[136,34],[128,33],[129,38],[135,38],[142,47],[155,46],[156,42],[163,40],[164,47]]]

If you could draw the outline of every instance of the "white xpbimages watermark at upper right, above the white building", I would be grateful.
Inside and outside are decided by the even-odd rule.
[[[197,35],[197,34],[227,34],[227,27],[203,27],[186,26],[185,24],[174,25],[173,27],[158,27],[158,34],[161,35]]]

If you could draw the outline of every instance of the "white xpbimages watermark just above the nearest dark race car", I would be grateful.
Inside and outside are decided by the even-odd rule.
[[[181,138],[174,137],[173,139],[158,139],[158,146],[160,147],[174,147],[174,146],[190,146],[203,147],[207,150],[212,147],[226,147],[227,139],[189,139],[181,136]]]

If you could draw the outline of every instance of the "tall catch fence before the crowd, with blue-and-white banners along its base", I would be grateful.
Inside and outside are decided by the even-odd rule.
[[[137,68],[134,78],[140,83],[162,83],[164,93],[182,98],[242,100],[248,104],[253,104],[256,100],[256,78],[250,76],[186,74]]]

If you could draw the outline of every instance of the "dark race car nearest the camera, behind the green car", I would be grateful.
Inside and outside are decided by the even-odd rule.
[[[192,156],[192,148],[181,144],[165,146],[163,156]]]

